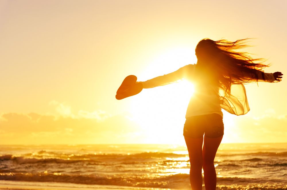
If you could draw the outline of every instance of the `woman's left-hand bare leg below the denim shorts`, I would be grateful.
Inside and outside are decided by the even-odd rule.
[[[189,180],[192,190],[202,190],[202,143],[201,138],[184,137],[188,150],[190,172]]]

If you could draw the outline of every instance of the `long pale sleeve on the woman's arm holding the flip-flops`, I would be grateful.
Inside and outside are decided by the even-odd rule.
[[[190,75],[193,75],[194,69],[195,65],[189,64],[179,68],[177,71],[174,71],[172,73],[168,73],[166,75],[162,75],[144,82],[137,83],[142,83],[144,88],[153,88],[157,86],[168,85],[180,79],[188,78]]]

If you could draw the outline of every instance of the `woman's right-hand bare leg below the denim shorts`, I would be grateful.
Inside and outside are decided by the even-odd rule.
[[[223,136],[217,138],[204,137],[202,150],[204,184],[206,190],[216,189],[216,171],[214,158]]]

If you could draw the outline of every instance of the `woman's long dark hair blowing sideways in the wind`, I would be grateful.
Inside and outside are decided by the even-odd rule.
[[[210,83],[219,83],[225,96],[230,96],[231,84],[249,83],[254,79],[257,81],[258,73],[269,66],[263,64],[264,59],[253,59],[247,52],[238,51],[249,47],[247,40],[231,42],[203,39],[196,46],[197,65],[202,71],[207,71]]]

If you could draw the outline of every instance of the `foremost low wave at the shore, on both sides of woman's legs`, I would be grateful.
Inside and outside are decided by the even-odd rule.
[[[86,185],[118,185],[118,186],[132,186],[132,187],[150,187],[150,188],[176,188],[176,189],[190,189],[188,174],[175,174],[157,178],[147,177],[111,177],[100,175],[67,175],[61,173],[47,174],[47,173],[2,173],[0,180],[13,181],[36,181],[36,182],[62,182],[62,183],[78,183]],[[287,190],[284,180],[267,180],[261,178],[239,178],[239,177],[218,177],[219,189],[226,189],[226,185],[250,185],[251,189],[270,190],[281,189]],[[259,186],[260,184],[268,183],[268,187]],[[223,185],[224,186],[220,186]],[[284,185],[285,184],[285,185]],[[257,185],[257,186],[256,186]],[[255,188],[257,187],[257,188]],[[230,189],[230,188],[227,188]],[[241,189],[241,188],[237,188]]]

